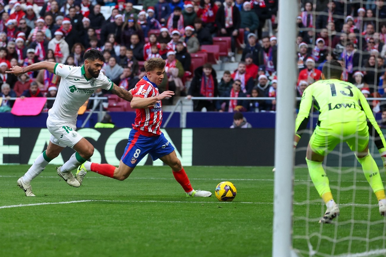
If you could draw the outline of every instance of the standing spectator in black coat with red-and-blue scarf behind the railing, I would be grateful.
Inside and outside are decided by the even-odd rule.
[[[206,63],[194,71],[190,84],[188,99],[191,97],[216,97],[218,96],[217,75],[212,64]],[[207,111],[215,111],[215,100],[193,100],[193,111],[201,111],[204,107]]]

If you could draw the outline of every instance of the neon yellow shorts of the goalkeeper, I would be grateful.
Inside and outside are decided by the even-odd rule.
[[[350,121],[332,124],[328,128],[317,126],[310,138],[310,147],[313,152],[325,156],[341,142],[346,142],[351,151],[363,151],[369,144],[367,123]]]

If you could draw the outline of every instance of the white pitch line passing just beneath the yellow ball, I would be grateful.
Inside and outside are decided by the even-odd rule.
[[[215,204],[269,204],[273,205],[272,202],[263,203],[263,202],[185,202],[185,201],[157,201],[157,200],[147,200],[147,201],[135,201],[135,200],[76,200],[69,202],[47,202],[47,203],[27,203],[27,204],[17,204],[17,205],[4,205],[0,206],[0,209],[4,208],[15,208],[15,207],[27,207],[27,206],[37,206],[37,205],[50,205],[50,204],[68,204],[68,203],[85,203],[85,202],[120,202],[120,203],[215,203]],[[294,205],[306,205],[307,203],[294,203]],[[322,205],[322,203],[309,203],[310,205]],[[351,204],[340,204],[340,206],[352,206]],[[368,204],[354,204],[354,206],[378,206],[378,205],[368,205]]]

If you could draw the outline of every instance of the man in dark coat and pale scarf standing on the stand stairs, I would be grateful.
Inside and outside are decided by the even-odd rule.
[[[235,61],[234,53],[236,50],[236,38],[240,29],[240,12],[234,6],[233,0],[225,0],[222,7],[218,9],[216,15],[217,29],[220,30],[220,36],[231,37],[231,62]],[[268,38],[269,42],[269,38]]]

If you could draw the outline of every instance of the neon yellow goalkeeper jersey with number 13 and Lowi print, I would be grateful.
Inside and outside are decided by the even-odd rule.
[[[298,136],[301,136],[301,131],[307,126],[312,105],[320,112],[317,125],[321,128],[328,128],[336,123],[362,123],[369,120],[379,130],[366,98],[349,82],[339,79],[320,80],[305,89],[295,123],[295,133]]]

